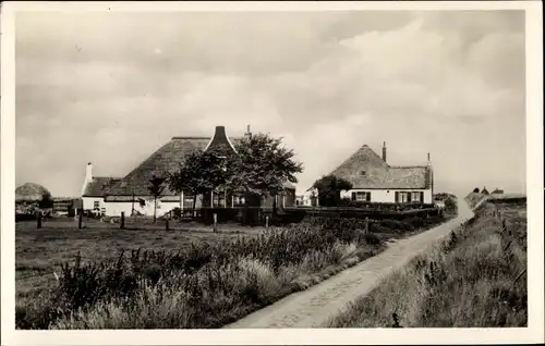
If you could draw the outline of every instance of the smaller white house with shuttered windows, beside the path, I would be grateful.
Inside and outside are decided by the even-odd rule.
[[[352,183],[341,197],[368,202],[433,202],[434,176],[429,155],[424,165],[390,165],[367,145],[361,147],[331,174]]]

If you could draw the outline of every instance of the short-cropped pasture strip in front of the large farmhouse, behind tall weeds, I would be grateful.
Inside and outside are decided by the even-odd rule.
[[[55,269],[61,263],[72,261],[80,252],[82,260],[102,260],[114,258],[122,250],[153,249],[178,251],[192,243],[216,243],[237,236],[255,236],[264,227],[243,227],[240,225],[211,226],[189,223],[171,223],[169,231],[157,222],[128,222],[126,230],[119,224],[85,220],[85,228],[78,230],[73,219],[48,220],[40,230],[35,221],[15,224],[15,287],[17,299],[32,296],[51,287],[56,280]]]

